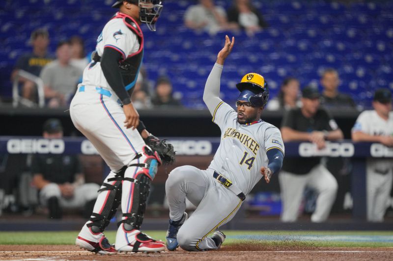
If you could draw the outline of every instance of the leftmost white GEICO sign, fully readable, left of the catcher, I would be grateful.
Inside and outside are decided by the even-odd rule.
[[[52,153],[64,152],[64,141],[56,139],[10,139],[7,142],[7,151],[10,154],[18,153]]]

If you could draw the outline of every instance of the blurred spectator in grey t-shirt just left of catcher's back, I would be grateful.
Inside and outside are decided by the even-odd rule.
[[[81,69],[70,64],[70,43],[63,41],[56,48],[56,60],[47,64],[40,77],[44,82],[44,93],[48,107],[65,106],[75,93],[76,84],[82,75]]]

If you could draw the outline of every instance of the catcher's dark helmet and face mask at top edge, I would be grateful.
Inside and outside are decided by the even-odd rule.
[[[156,22],[163,9],[161,0],[126,0],[139,6],[139,19],[149,27],[150,31],[156,30]],[[119,8],[123,0],[118,0],[112,4],[113,8]]]

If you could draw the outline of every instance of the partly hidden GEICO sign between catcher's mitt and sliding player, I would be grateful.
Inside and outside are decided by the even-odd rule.
[[[210,155],[212,143],[209,141],[168,141],[173,144],[176,155]]]

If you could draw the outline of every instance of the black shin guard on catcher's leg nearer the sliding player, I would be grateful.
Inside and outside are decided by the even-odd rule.
[[[131,192],[132,206],[130,213],[123,213],[125,219],[118,222],[118,225],[124,223],[124,229],[126,231],[140,229],[146,209],[147,197],[150,192],[151,178],[143,171],[140,171],[136,175],[134,183],[134,189]]]

